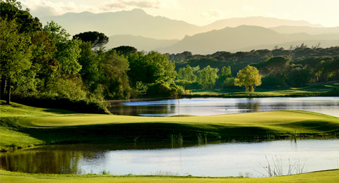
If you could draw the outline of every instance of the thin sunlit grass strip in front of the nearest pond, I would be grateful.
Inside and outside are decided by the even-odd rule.
[[[157,175],[43,175],[0,170],[1,182],[338,182],[339,170],[309,172],[299,175],[265,178],[180,177]]]

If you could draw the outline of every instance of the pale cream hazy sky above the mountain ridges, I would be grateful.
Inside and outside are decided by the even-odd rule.
[[[131,10],[207,25],[215,20],[266,16],[339,26],[339,0],[19,0],[38,18],[67,12]]]

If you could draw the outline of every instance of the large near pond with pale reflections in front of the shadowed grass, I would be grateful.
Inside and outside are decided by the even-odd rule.
[[[266,177],[270,163],[286,175],[339,168],[339,139],[218,143],[59,145],[0,156],[1,169],[31,173]],[[267,159],[266,159],[267,158]]]

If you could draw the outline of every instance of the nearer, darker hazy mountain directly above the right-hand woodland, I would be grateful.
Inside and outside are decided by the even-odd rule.
[[[339,40],[338,34],[311,35],[306,33],[281,34],[265,27],[241,25],[239,27],[226,27],[222,30],[213,30],[206,33],[185,37],[182,41],[166,48],[157,49],[162,53],[192,53],[210,54],[216,51],[245,51],[248,48],[273,49],[272,45],[299,41],[313,40],[318,43],[321,40]],[[339,42],[333,42],[339,46]],[[269,47],[263,47],[267,45]],[[290,44],[291,45],[291,44]],[[290,46],[289,45],[289,46]],[[311,45],[310,45],[311,46]],[[248,51],[248,50],[247,50]]]

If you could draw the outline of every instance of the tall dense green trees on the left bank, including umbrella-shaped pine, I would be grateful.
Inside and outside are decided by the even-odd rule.
[[[143,94],[176,96],[177,72],[167,56],[130,46],[105,50],[108,37],[73,38],[53,21],[44,27],[20,2],[1,2],[1,99],[105,113],[104,100]],[[48,103],[48,104],[47,104]],[[89,106],[84,110],[83,106]],[[53,106],[52,106],[53,107]]]

